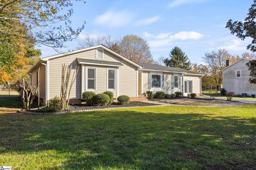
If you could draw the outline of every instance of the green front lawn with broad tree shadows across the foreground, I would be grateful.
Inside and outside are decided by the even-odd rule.
[[[13,169],[255,169],[256,106],[0,114]]]

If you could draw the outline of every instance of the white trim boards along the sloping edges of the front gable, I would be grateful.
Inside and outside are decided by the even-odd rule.
[[[103,46],[102,44],[101,45],[96,45],[96,46],[91,46],[91,47],[87,47],[87,48],[82,48],[82,49],[77,49],[77,50],[74,50],[72,52],[67,52],[67,53],[61,53],[61,54],[57,54],[57,55],[52,55],[52,56],[48,56],[48,57],[44,57],[42,58],[43,61],[48,61],[48,60],[52,60],[54,58],[58,58],[58,57],[63,57],[63,56],[66,56],[66,55],[70,55],[70,54],[75,54],[75,53],[81,53],[81,52],[85,52],[86,50],[90,50],[90,49],[96,49],[96,48],[103,48],[104,50],[106,50],[107,52],[111,53],[111,54],[114,54],[115,56],[119,57],[119,58],[122,58],[124,61],[134,65],[134,66],[137,66],[139,68],[141,68],[141,66],[131,60],[129,60],[128,58],[114,52],[114,50],[111,50],[109,49],[108,47],[106,46]]]

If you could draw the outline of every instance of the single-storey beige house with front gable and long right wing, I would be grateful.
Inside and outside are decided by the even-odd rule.
[[[40,98],[49,100],[60,96],[62,64],[79,66],[70,93],[71,103],[80,103],[84,91],[112,91],[114,98],[127,95],[132,100],[143,97],[147,90],[174,94],[201,94],[201,77],[188,70],[157,64],[138,64],[113,50],[97,45],[73,52],[44,57],[29,71],[32,86],[39,74]],[[38,68],[40,67],[39,73]]]

